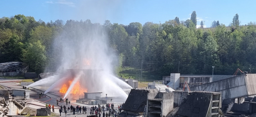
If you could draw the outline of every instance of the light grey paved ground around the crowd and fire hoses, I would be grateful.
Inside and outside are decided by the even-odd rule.
[[[20,86],[19,83],[9,82],[9,81],[17,81],[17,80],[20,81],[22,79],[1,79],[0,78],[0,86],[2,85],[2,86],[5,86],[5,88],[9,87],[9,88],[12,88],[12,89],[22,89],[22,86]],[[5,82],[5,83],[2,83],[2,82]],[[69,100],[71,101],[70,104],[66,105],[65,102],[60,102],[59,106],[57,106],[56,99],[60,99],[61,97],[64,97],[64,94],[59,93],[58,89],[53,89],[52,91],[50,91],[49,93],[46,94],[47,96],[43,96],[39,99],[39,93],[41,93],[41,92],[44,93],[47,88],[48,87],[30,87],[30,90],[31,90],[30,91],[30,99],[27,99],[27,103],[28,103],[27,107],[38,109],[40,107],[45,107],[45,104],[48,103],[50,105],[55,106],[55,109],[54,109],[55,113],[59,113],[58,108],[59,108],[60,105],[62,105],[62,106],[65,105],[66,107],[71,106],[71,105],[72,106],[77,106],[77,105],[86,106],[87,107],[87,114],[82,114],[82,112],[81,113],[76,113],[75,115],[73,115],[73,113],[71,113],[71,112],[67,113],[68,117],[76,117],[76,116],[86,117],[87,115],[89,115],[88,113],[90,113],[90,107],[91,106],[98,106],[98,105],[86,105],[86,104],[82,104],[82,103],[76,103],[76,99],[79,98],[79,96],[76,96],[76,95],[72,95],[71,98],[68,97]],[[121,105],[124,102],[125,102],[125,100],[114,99],[112,101],[112,103],[114,103],[114,109],[117,109],[118,105]],[[111,103],[111,101],[108,101],[107,103]],[[65,113],[61,113],[61,117],[65,117]]]

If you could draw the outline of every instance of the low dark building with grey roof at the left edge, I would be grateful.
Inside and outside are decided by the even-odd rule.
[[[22,62],[0,63],[0,76],[15,76],[27,72]]]

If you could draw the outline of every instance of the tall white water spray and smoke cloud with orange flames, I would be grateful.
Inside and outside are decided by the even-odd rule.
[[[132,87],[114,75],[118,54],[110,47],[105,29],[82,21],[69,20],[67,23],[61,35],[54,39],[50,54],[55,55],[55,61],[50,61],[47,67],[56,68],[57,75],[48,76],[29,87],[49,87],[45,93],[59,89],[65,94],[63,98],[102,92],[126,99],[128,95],[123,88]]]

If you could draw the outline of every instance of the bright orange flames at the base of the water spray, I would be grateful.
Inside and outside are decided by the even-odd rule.
[[[60,93],[67,93],[69,86],[71,86],[72,81],[69,80],[68,83],[63,84],[60,88]],[[67,86],[68,84],[68,86]],[[80,83],[77,82],[75,86],[71,89],[70,93],[73,95],[82,95],[87,92],[87,89],[80,87]]]

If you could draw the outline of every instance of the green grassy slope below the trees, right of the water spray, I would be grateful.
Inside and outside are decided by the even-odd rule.
[[[121,73],[123,78],[128,79],[129,76],[131,79],[140,80],[141,69],[132,68],[132,67],[123,67],[122,70],[118,73],[118,76],[121,77]],[[161,80],[162,76],[156,75],[150,71],[143,71],[142,69],[142,81],[146,80]]]

